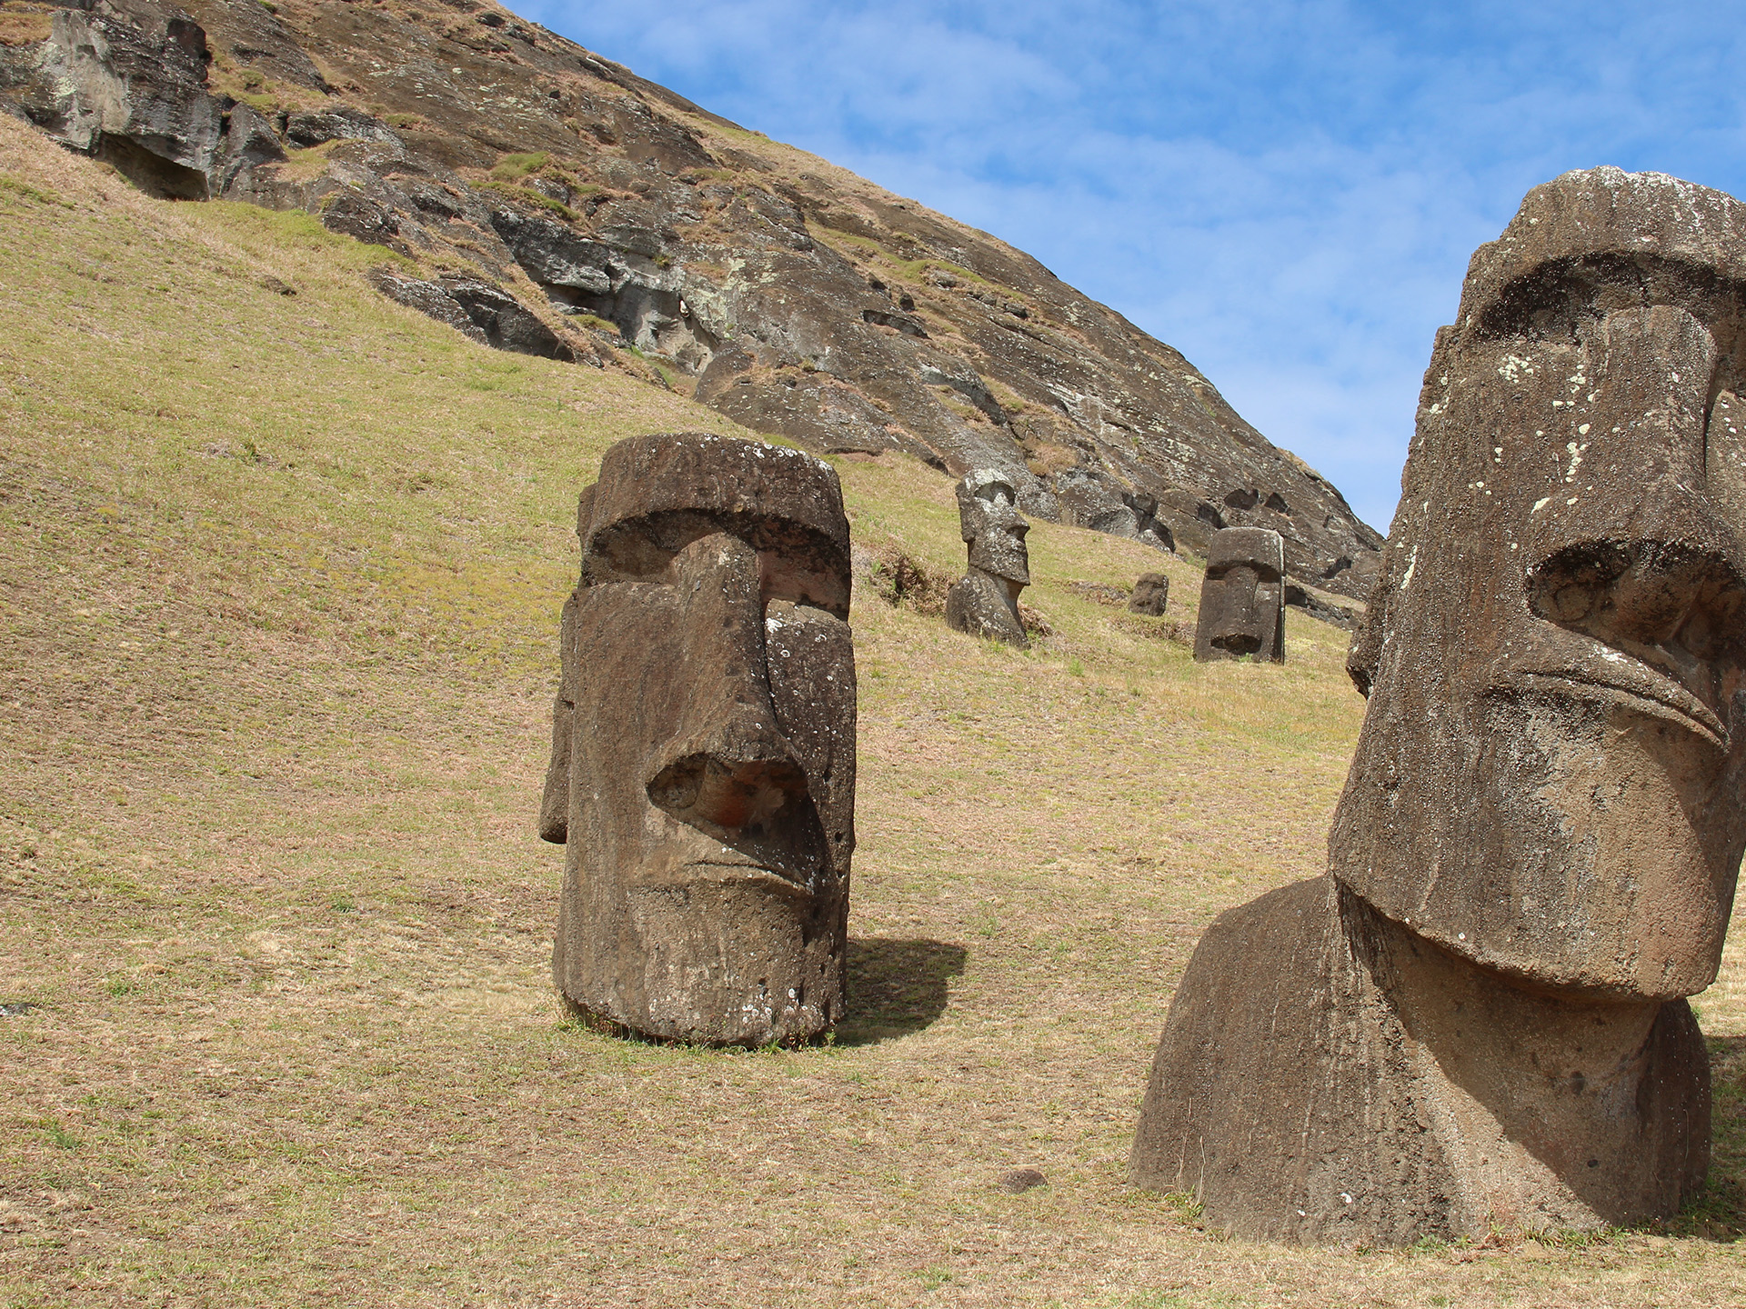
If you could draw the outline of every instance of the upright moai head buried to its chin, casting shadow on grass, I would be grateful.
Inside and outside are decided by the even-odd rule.
[[[552,972],[608,1030],[716,1045],[842,1016],[854,850],[849,520],[819,459],[634,436],[576,511],[540,834]]]

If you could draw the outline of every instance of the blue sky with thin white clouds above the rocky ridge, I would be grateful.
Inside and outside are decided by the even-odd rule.
[[[1170,342],[1386,529],[1432,333],[1523,192],[1746,187],[1746,10],[517,0],[986,229]]]

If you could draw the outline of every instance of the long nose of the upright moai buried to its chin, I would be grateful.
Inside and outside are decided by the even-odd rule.
[[[770,696],[758,552],[707,536],[679,553],[674,572],[686,606],[676,674],[690,695],[650,770],[650,803],[716,836],[770,833],[808,791]]]

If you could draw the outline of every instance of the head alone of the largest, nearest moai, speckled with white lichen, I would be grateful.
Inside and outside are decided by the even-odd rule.
[[[1746,843],[1746,206],[1535,188],[1437,337],[1329,838],[1381,913],[1536,986],[1716,974]]]

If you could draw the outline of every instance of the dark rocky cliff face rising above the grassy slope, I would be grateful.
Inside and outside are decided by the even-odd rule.
[[[491,346],[637,372],[828,452],[993,468],[1025,511],[1205,553],[1381,538],[1177,351],[1028,255],[482,0],[7,0],[0,106],[161,195],[302,208]],[[384,260],[386,264],[386,260]]]

